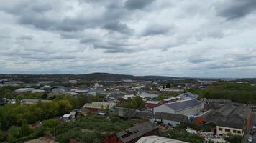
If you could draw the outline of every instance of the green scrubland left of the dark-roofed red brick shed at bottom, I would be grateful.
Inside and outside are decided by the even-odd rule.
[[[101,142],[110,134],[132,127],[132,121],[110,116],[109,119],[98,115],[88,115],[76,122],[61,122],[55,127],[56,139],[59,142],[69,142],[75,139],[81,142]]]

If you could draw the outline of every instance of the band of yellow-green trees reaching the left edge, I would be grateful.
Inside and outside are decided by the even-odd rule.
[[[68,100],[54,102],[39,102],[38,104],[20,105],[6,104],[0,108],[0,123],[2,129],[9,129],[11,126],[22,126],[37,121],[49,119],[70,112],[72,105]]]

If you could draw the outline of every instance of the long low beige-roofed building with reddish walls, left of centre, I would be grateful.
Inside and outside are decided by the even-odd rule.
[[[92,102],[83,105],[82,109],[90,112],[100,112],[102,109],[114,109],[116,103],[111,102]]]

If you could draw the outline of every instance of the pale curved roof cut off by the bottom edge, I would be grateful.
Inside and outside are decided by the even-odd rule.
[[[188,143],[160,136],[141,137],[136,143]]]

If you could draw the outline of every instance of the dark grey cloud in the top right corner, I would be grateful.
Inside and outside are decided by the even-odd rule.
[[[237,19],[256,10],[255,0],[227,0],[216,6],[219,16],[227,19]]]

